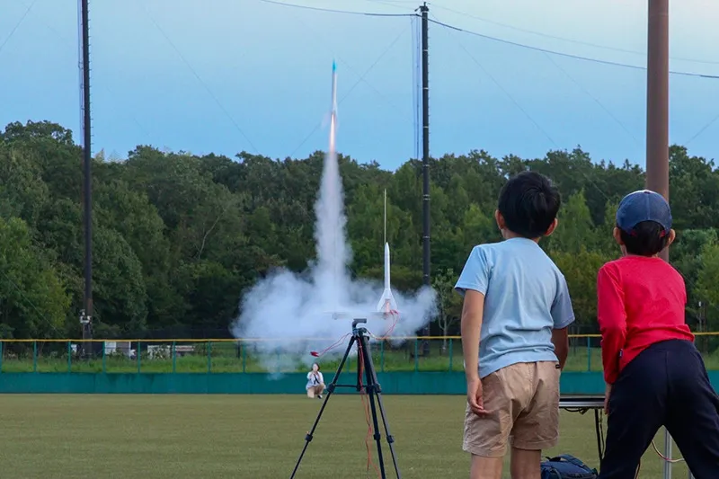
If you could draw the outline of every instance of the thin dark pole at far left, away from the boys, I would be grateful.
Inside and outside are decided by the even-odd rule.
[[[93,339],[93,191],[92,132],[90,130],[90,28],[88,0],[80,0],[82,44],[83,170],[84,170],[84,309],[80,312],[83,340]],[[83,342],[82,354],[87,358],[92,343]]]

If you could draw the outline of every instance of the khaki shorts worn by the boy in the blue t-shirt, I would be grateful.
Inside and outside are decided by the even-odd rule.
[[[463,449],[482,457],[503,457],[512,448],[548,449],[559,439],[559,377],[554,361],[512,364],[482,379],[484,409],[467,404]]]

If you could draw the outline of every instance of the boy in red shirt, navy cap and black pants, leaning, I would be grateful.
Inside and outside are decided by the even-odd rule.
[[[684,321],[684,279],[658,257],[674,237],[660,194],[635,191],[619,203],[623,257],[597,277],[608,412],[599,479],[634,479],[661,426],[697,479],[719,477],[719,397]]]

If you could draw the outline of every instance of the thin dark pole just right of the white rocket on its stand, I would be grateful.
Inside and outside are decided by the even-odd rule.
[[[429,13],[426,3],[420,6],[422,12],[422,279],[425,286],[431,286],[430,279],[430,64]],[[424,328],[425,336],[430,335],[429,324]],[[422,344],[422,354],[429,355],[430,343]]]

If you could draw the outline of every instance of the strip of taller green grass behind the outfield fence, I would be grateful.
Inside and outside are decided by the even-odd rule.
[[[600,371],[601,350],[592,342],[597,338],[576,338],[570,350],[566,371]],[[148,343],[149,344],[149,343]],[[181,343],[178,343],[178,346]],[[173,358],[171,345],[165,345],[164,355],[150,357],[144,349],[139,359],[130,359],[121,354],[106,354],[102,357],[102,345],[97,357],[79,360],[67,353],[63,342],[3,342],[0,355],[2,372],[111,372],[111,373],[242,373],[306,371],[305,361],[297,357],[259,356],[251,347],[237,349],[235,342],[182,342],[191,347],[191,352]],[[444,347],[443,347],[444,346]],[[344,344],[336,350],[342,353]],[[141,348],[142,349],[142,348]],[[711,350],[706,348],[706,350]],[[378,372],[384,371],[461,371],[462,343],[449,339],[431,342],[431,353],[421,354],[420,342],[410,340],[401,347],[391,348],[387,343],[373,344],[372,356]],[[704,355],[706,368],[719,369],[719,352]],[[304,359],[309,359],[307,354]],[[323,358],[324,370],[337,368],[336,358]],[[274,366],[269,366],[274,364]],[[356,368],[356,361],[350,360],[350,370]]]

